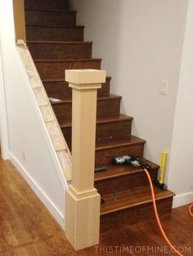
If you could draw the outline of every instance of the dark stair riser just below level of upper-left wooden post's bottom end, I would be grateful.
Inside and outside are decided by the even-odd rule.
[[[34,59],[91,59],[92,43],[28,43]]]

